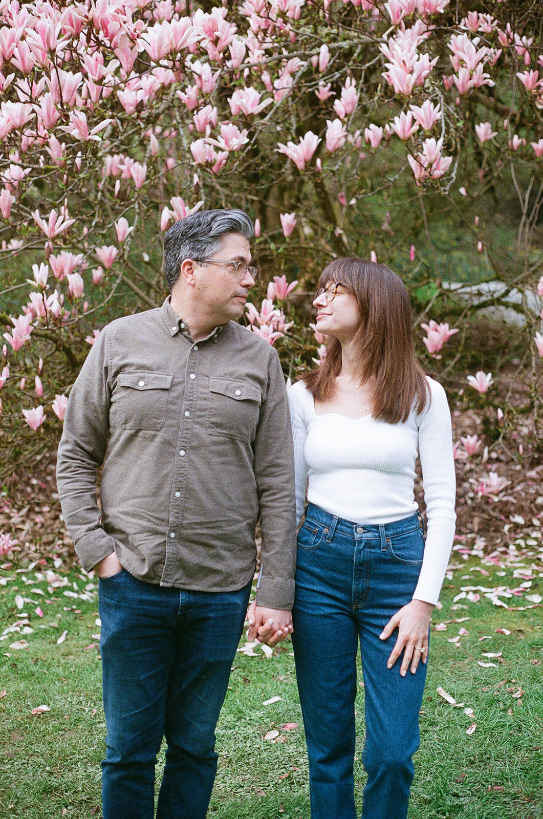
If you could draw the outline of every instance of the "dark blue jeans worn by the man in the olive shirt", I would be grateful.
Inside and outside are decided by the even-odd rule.
[[[222,593],[162,588],[124,569],[100,580],[106,758],[104,819],[205,819],[217,770],[215,726],[251,583]]]

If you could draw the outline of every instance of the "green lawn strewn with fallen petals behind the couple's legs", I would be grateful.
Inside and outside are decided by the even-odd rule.
[[[529,590],[533,594],[537,584],[543,587],[539,577],[543,572],[541,552],[523,563],[534,567]],[[496,568],[488,565],[491,575],[483,577],[473,571],[480,565],[479,559],[470,557],[455,570],[452,580],[446,581],[449,587],[442,595],[443,608],[434,613],[436,623],[470,619],[448,624],[447,631],[432,632],[410,819],[543,817],[541,608],[501,609],[484,598],[478,603],[464,599],[453,604],[463,585],[515,588],[523,581],[513,577],[515,564],[498,567],[505,569],[505,577],[496,577]],[[85,650],[97,642],[92,636],[99,631],[96,591],[91,590],[91,600],[64,595],[66,590],[83,592],[88,578],[82,580],[74,571],[64,575],[59,569],[57,574],[67,577],[70,586],[51,593],[46,581],[36,579],[38,568],[16,575],[13,570],[1,573],[16,577],[7,581],[7,586],[0,586],[2,631],[20,618],[16,594],[35,602],[25,603],[22,609],[34,631],[10,634],[0,642],[0,690],[7,691],[0,699],[0,817],[99,817],[99,763],[105,747],[101,663],[96,647]],[[77,590],[71,585],[74,582]],[[35,588],[45,594],[32,593]],[[507,602],[511,606],[529,605],[523,597]],[[37,604],[43,609],[43,619],[34,613]],[[452,605],[456,608],[451,609]],[[460,637],[456,648],[448,640],[460,627],[469,633]],[[512,633],[497,634],[497,627]],[[66,640],[57,645],[65,630]],[[491,639],[480,641],[481,636]],[[20,639],[28,640],[28,649],[9,647]],[[503,655],[488,659],[482,657],[483,651],[503,651]],[[477,660],[497,667],[480,667]],[[464,708],[473,708],[475,717],[466,715],[464,708],[447,704],[437,695],[437,686],[464,703]],[[523,695],[515,699],[513,694],[519,687]],[[281,697],[279,702],[263,705],[275,695]],[[41,704],[51,710],[33,716],[32,708]],[[359,809],[364,787],[360,761],[363,704],[364,692],[359,688],[355,771]],[[298,728],[282,731],[287,722],[297,722]],[[472,722],[477,723],[477,729],[468,736]],[[264,739],[274,728],[279,729],[284,742]],[[270,659],[260,654],[260,649],[256,657],[236,655],[217,737],[221,757],[210,817],[309,819],[307,761],[290,643],[281,645]]]

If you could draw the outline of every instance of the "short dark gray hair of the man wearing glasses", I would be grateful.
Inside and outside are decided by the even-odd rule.
[[[213,256],[227,233],[251,239],[255,228],[247,214],[235,208],[197,211],[172,225],[164,238],[164,278],[170,292],[179,278],[181,263]]]

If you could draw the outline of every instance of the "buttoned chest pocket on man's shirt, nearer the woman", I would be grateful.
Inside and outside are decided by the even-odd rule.
[[[207,432],[253,441],[261,401],[262,394],[255,384],[229,378],[210,378]]]

